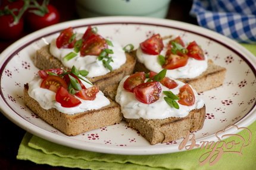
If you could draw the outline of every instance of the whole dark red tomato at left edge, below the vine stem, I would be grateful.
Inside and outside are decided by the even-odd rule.
[[[23,18],[20,18],[18,23],[14,23],[12,15],[2,15],[0,23],[0,39],[18,38],[23,31]]]

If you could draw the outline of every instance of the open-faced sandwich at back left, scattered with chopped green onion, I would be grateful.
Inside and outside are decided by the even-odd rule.
[[[49,45],[36,52],[35,66],[46,70],[71,69],[74,65],[78,70],[88,70],[86,78],[101,90],[117,84],[133,72],[135,57],[116,41],[104,39],[97,32],[96,27],[90,26],[84,34],[66,28]]]

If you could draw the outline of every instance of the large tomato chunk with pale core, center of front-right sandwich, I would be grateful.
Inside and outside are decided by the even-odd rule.
[[[157,101],[161,91],[162,88],[159,82],[145,82],[133,89],[135,98],[145,104],[151,104]]]

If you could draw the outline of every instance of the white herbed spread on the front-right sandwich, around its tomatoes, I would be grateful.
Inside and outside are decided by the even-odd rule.
[[[181,86],[185,85],[183,82],[176,81],[178,86],[174,89],[168,89],[166,86],[161,85],[162,92],[160,93],[159,100],[152,104],[144,104],[136,100],[132,92],[128,92],[123,88],[124,81],[129,76],[126,76],[120,82],[115,101],[121,106],[121,112],[125,118],[144,118],[144,119],[164,119],[168,117],[185,117],[190,111],[199,109],[204,106],[204,100],[198,97],[197,92],[193,89],[195,94],[195,104],[191,106],[179,104],[179,109],[170,107],[164,100],[163,91],[171,91],[173,94],[179,94]]]

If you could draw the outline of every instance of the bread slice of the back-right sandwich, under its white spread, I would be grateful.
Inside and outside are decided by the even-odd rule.
[[[143,63],[136,62],[135,71],[149,72]],[[193,87],[197,92],[204,92],[213,88],[217,88],[223,84],[226,75],[226,68],[217,66],[213,60],[208,60],[208,68],[201,75],[192,79],[177,79],[185,82]]]

